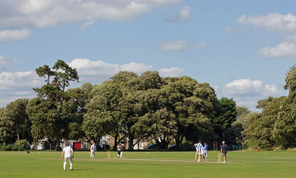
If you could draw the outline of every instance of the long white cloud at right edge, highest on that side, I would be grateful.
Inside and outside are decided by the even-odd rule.
[[[296,17],[292,14],[268,13],[267,15],[249,17],[242,15],[237,22],[256,28],[263,27],[267,31],[296,32]]]

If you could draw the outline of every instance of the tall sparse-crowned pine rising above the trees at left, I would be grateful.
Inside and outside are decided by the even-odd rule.
[[[52,69],[55,69],[55,71],[51,71],[47,65],[36,69],[39,77],[46,78],[46,84],[41,88],[33,88],[33,90],[37,93],[38,98],[54,103],[59,108],[59,115],[55,115],[54,118],[52,132],[47,135],[50,140],[55,140],[59,144],[59,141],[66,138],[70,132],[68,123],[71,114],[67,109],[63,109],[64,101],[70,99],[65,88],[70,86],[70,81],[79,82],[79,77],[76,69],[71,68],[62,60],[57,60]],[[53,77],[53,80],[49,82],[51,77]]]

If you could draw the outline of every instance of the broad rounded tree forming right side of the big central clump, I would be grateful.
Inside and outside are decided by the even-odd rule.
[[[191,131],[201,135],[203,131],[212,129],[210,121],[217,107],[217,98],[209,84],[197,83],[187,76],[165,78],[163,81],[163,105],[175,115],[177,132],[174,138],[176,149],[180,149],[185,137],[192,142],[200,138],[188,135]]]

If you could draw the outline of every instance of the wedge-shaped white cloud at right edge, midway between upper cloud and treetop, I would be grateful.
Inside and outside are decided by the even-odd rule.
[[[258,50],[257,54],[266,58],[296,58],[296,44],[283,42],[275,47],[264,47]]]

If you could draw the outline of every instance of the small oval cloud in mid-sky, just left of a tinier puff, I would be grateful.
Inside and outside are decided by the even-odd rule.
[[[189,47],[188,42],[186,41],[175,41],[175,42],[162,42],[159,43],[159,50],[163,52],[174,51],[179,52],[186,50]]]

